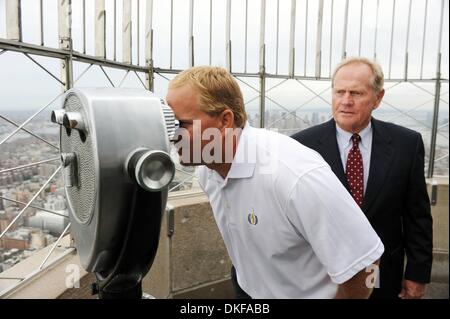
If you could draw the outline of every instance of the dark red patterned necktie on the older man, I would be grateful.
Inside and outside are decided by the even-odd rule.
[[[361,136],[353,134],[353,147],[348,152],[346,174],[348,184],[350,185],[350,193],[356,203],[361,207],[364,197],[364,169],[361,152],[358,147],[360,141]]]

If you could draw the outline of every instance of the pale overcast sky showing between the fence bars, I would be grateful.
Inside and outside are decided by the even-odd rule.
[[[0,0],[0,38],[6,38],[5,1]],[[405,52],[407,34],[409,34],[408,75],[410,78],[419,78],[421,73],[422,47],[423,51],[423,78],[434,78],[436,74],[436,57],[439,44],[439,22],[441,17],[441,0],[428,0],[427,20],[424,29],[424,13],[426,0],[396,0],[393,28],[392,60],[390,62],[390,43],[392,34],[392,12],[394,0],[379,1],[378,27],[376,28],[377,1],[364,1],[361,16],[361,0],[350,0],[348,9],[348,32],[346,37],[346,51],[348,56],[361,55],[373,58],[375,51],[378,61],[382,64],[386,77],[402,78],[405,66]],[[194,1],[194,38],[195,38],[195,64],[209,64],[209,39],[210,39],[210,0]],[[259,34],[260,34],[260,0],[232,1],[231,15],[231,41],[232,41],[232,67],[234,72],[256,73],[259,68]],[[308,11],[306,4],[308,3]],[[333,24],[331,27],[331,0],[324,1],[323,26],[322,26],[322,63],[321,75],[328,77],[331,68],[339,62],[342,55],[345,0],[333,1]],[[407,29],[408,9],[411,5],[410,29]],[[22,27],[23,41],[39,44],[39,0],[22,1]],[[295,21],[295,73],[297,75],[314,76],[317,39],[318,0],[297,0]],[[86,1],[86,51],[94,54],[94,5],[95,1]],[[133,63],[137,63],[137,15],[139,12],[139,63],[145,65],[145,12],[147,1],[141,0],[139,10],[137,1],[133,0]],[[225,16],[226,0],[212,0],[212,56],[213,65],[225,66]],[[279,1],[279,26],[277,27],[277,1],[267,0],[266,10],[266,71],[287,74],[289,60],[289,33],[291,0]],[[107,20],[107,58],[113,57],[113,7],[114,0],[106,0]],[[172,67],[184,69],[188,66],[189,45],[189,1],[173,0],[173,41],[172,41]],[[449,38],[449,14],[448,0],[444,0],[444,25],[442,31],[441,52],[443,77],[448,78],[448,38]],[[117,60],[122,59],[122,1],[117,0]],[[247,22],[247,49],[245,48],[245,16]],[[361,20],[362,19],[362,20]],[[362,22],[361,22],[362,21]],[[361,42],[360,23],[362,23]],[[153,30],[154,30],[154,61],[156,67],[169,68],[170,66],[170,1],[153,1]],[[277,29],[278,29],[278,65],[277,55]],[[44,0],[44,40],[45,45],[58,46],[57,33],[57,0]],[[425,43],[423,42],[425,32]],[[375,43],[375,33],[377,42]],[[306,49],[305,49],[305,34]],[[82,51],[82,0],[72,0],[72,37],[74,49]],[[330,41],[332,40],[332,42]],[[331,43],[330,43],[331,42]],[[331,44],[331,50],[330,50]],[[247,51],[247,60],[245,59]],[[305,61],[306,57],[306,61]],[[45,65],[55,75],[59,75],[59,63],[54,59],[36,57],[36,60]],[[306,62],[306,63],[305,63]],[[306,69],[305,69],[306,65]],[[75,63],[75,78],[86,65]],[[107,85],[109,82],[100,69],[88,71],[79,86]],[[111,79],[118,84],[123,71],[108,70]],[[141,75],[144,80],[144,76]],[[278,80],[269,81],[268,87]],[[249,80],[257,86],[257,82]],[[22,54],[7,52],[0,56],[0,109],[15,107],[31,107],[30,96],[33,101],[51,100],[55,92],[59,92],[59,83],[42,72],[32,61]],[[125,86],[139,86],[140,82],[135,74],[128,75]],[[323,89],[323,83],[312,84],[317,91]],[[156,93],[165,94],[166,81],[157,76]],[[326,84],[325,84],[326,86]],[[244,86],[246,100],[257,93]],[[430,90],[433,90],[431,85]],[[29,93],[24,95],[24,90]],[[278,98],[284,104],[293,104],[292,100],[299,95],[298,83],[290,83],[280,86],[277,91]],[[448,90],[448,84],[447,84]],[[326,97],[327,98],[327,97]],[[448,101],[448,94],[446,96]],[[42,101],[42,102],[41,102]],[[320,102],[320,100],[316,101]],[[256,103],[256,102],[255,102]],[[323,104],[323,102],[321,102]]]

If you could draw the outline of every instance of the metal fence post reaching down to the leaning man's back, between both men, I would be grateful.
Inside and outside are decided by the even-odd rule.
[[[265,102],[266,102],[266,45],[265,45],[265,29],[266,29],[266,0],[261,0],[261,23],[259,32],[259,83],[260,83],[260,127],[264,127],[265,123]]]

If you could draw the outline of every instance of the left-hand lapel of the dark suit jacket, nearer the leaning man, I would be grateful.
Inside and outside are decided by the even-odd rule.
[[[339,154],[339,147],[336,139],[336,124],[333,119],[325,124],[323,135],[319,139],[320,154],[330,165],[334,174],[339,178],[341,183],[349,189],[347,176],[342,167],[342,160]]]

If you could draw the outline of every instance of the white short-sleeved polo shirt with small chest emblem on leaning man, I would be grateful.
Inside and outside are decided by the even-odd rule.
[[[384,251],[329,165],[288,136],[247,123],[225,179],[197,172],[252,298],[333,298]]]

